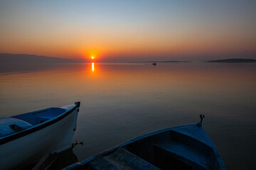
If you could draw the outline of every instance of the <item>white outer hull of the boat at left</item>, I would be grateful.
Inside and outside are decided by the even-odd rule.
[[[72,147],[80,103],[60,107],[65,113],[21,133],[1,139],[1,169],[16,169],[41,159],[45,154]],[[32,114],[41,113],[34,112]]]

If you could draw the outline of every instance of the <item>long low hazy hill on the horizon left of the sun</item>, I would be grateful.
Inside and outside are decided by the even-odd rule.
[[[57,58],[57,57],[46,57],[38,55],[13,55],[0,53],[0,63],[68,63],[75,62],[75,60]]]

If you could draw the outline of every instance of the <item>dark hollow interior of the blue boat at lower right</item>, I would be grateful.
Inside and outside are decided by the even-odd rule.
[[[215,158],[211,147],[172,130],[132,142],[124,148],[160,169],[211,169],[210,165],[214,165],[210,162]]]

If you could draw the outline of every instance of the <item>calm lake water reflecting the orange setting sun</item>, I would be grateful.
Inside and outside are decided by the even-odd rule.
[[[1,117],[81,101],[79,161],[204,114],[226,168],[256,169],[256,64],[3,64],[0,77]]]

